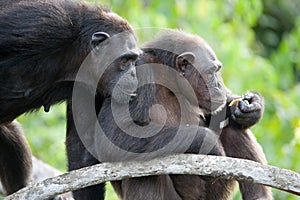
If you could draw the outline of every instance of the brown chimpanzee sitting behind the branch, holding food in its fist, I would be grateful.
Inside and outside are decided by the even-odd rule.
[[[77,117],[69,105],[67,150],[70,169],[98,163],[95,157],[100,161],[122,161],[171,153],[224,155],[219,141],[226,156],[266,163],[260,145],[248,129],[261,118],[263,99],[257,93],[249,92],[237,101],[239,97],[231,94],[223,84],[219,72],[222,64],[203,39],[169,30],[146,44],[143,52],[137,63],[139,83],[155,83],[155,86],[140,85],[137,96],[125,107],[110,98],[96,98],[101,131],[93,129],[94,118]],[[85,109],[82,108],[80,115]],[[75,122],[72,115],[77,118]],[[84,120],[85,134],[96,135],[94,144],[90,142],[87,148],[75,127],[78,121]],[[90,121],[92,124],[88,125]],[[150,129],[147,129],[149,125]],[[157,134],[151,134],[153,129],[158,130],[154,132]],[[218,134],[220,140],[216,141]],[[177,135],[182,141],[176,138]],[[164,148],[169,144],[174,148]],[[77,156],[73,152],[77,152]],[[151,176],[112,184],[124,200],[228,199],[234,189],[233,181],[193,175]],[[272,199],[268,187],[244,182],[239,185],[244,199]],[[78,190],[74,193],[75,199],[97,199],[101,187]]]

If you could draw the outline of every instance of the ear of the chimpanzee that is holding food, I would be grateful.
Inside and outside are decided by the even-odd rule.
[[[187,65],[194,64],[195,62],[195,54],[193,52],[183,52],[179,56],[176,57],[176,70],[179,72],[180,75],[184,76]]]

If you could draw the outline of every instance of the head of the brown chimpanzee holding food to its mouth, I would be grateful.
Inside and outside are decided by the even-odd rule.
[[[220,75],[222,64],[199,36],[167,30],[146,44],[143,51],[142,63],[158,63],[172,69],[169,75],[155,73],[156,79],[168,79],[165,82],[176,85],[172,92],[181,93],[204,113],[219,111],[225,105],[227,89]]]

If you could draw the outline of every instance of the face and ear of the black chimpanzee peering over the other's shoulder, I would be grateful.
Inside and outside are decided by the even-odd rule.
[[[104,70],[98,90],[119,103],[126,103],[136,96],[138,80],[135,61],[141,50],[137,48],[135,36],[122,33],[109,37],[106,33],[95,33],[92,46],[96,59],[101,61],[101,66],[97,66]],[[107,66],[106,69],[103,69],[104,66]]]

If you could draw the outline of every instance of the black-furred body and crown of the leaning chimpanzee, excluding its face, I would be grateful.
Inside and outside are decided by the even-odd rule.
[[[2,0],[0,3],[10,2]],[[12,1],[13,2],[13,1]],[[70,97],[92,34],[131,31],[108,10],[70,0],[23,0],[0,14],[0,122]]]

